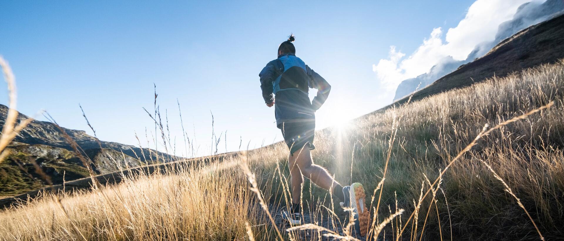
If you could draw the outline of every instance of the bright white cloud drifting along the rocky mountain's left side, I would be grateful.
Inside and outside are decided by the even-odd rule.
[[[517,8],[531,0],[477,0],[468,8],[464,19],[455,28],[448,29],[443,42],[442,28],[431,31],[429,38],[408,57],[390,47],[389,59],[372,65],[381,86],[394,91],[404,79],[429,72],[447,56],[465,60],[478,44],[493,41],[497,27],[512,19]]]

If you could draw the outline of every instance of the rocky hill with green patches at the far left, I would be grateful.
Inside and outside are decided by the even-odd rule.
[[[8,108],[0,105],[0,128],[4,126]],[[18,119],[27,119],[19,114]],[[91,167],[98,174],[120,171],[129,167],[182,159],[147,148],[124,145],[117,142],[100,141],[85,131],[63,128],[82,149],[85,157],[92,160]],[[0,163],[0,196],[25,193],[43,188],[45,182],[39,178],[34,163],[49,175],[54,184],[89,176],[72,146],[63,133],[51,122],[33,120],[16,136],[7,148],[11,154]]]

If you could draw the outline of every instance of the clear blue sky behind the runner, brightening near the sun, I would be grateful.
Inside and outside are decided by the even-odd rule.
[[[136,145],[136,131],[147,146],[145,127],[149,138],[155,129],[142,107],[153,109],[155,83],[178,146],[177,99],[202,153],[210,111],[217,134],[227,130],[228,150],[240,139],[255,148],[281,140],[258,73],[290,33],[297,56],[333,87],[317,113],[323,128],[389,104],[395,90],[373,65],[390,46],[411,53],[433,29],[455,28],[473,2],[2,1],[0,55],[14,70],[24,114],[45,109],[61,126],[87,130],[80,103],[101,140]]]

